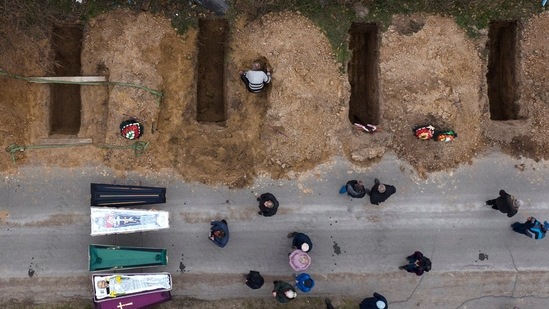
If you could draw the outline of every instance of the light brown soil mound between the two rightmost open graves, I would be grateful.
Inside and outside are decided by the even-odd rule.
[[[405,27],[415,25],[416,27]],[[381,100],[391,148],[420,172],[471,160],[481,140],[484,65],[452,19],[397,17],[381,44]],[[452,129],[451,143],[420,141],[412,129]]]

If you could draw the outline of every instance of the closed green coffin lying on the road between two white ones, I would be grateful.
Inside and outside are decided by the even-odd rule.
[[[90,245],[90,271],[168,265],[166,249]]]

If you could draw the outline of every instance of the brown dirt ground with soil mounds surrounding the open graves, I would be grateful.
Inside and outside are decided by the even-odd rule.
[[[82,75],[107,75],[162,90],[157,104],[143,90],[82,86],[80,138],[94,145],[130,145],[118,125],[141,119],[150,142],[145,154],[95,146],[27,150],[13,165],[0,156],[0,170],[23,165],[74,167],[106,164],[118,171],[171,170],[187,181],[245,187],[257,175],[294,177],[343,155],[359,166],[393,151],[420,175],[468,163],[488,146],[536,160],[549,154],[547,114],[549,14],[519,29],[519,120],[491,121],[487,98],[487,32],[467,37],[451,18],[396,16],[381,34],[381,131],[369,135],[348,121],[350,84],[324,33],[296,13],[275,13],[231,25],[225,61],[225,125],[196,121],[197,30],[177,35],[170,20],[119,10],[84,28]],[[20,36],[19,48],[0,46],[0,68],[25,76],[47,73],[50,42]],[[32,48],[30,48],[32,46]],[[39,46],[41,48],[36,48]],[[265,56],[273,67],[266,93],[249,94],[238,71]],[[46,65],[44,65],[46,64]],[[2,77],[2,147],[38,144],[47,138],[49,86]],[[432,123],[454,129],[451,143],[419,141],[411,133]]]

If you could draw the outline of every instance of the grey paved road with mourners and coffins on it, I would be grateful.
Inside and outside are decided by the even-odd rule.
[[[267,283],[290,280],[286,235],[299,230],[314,242],[309,270],[317,286],[311,296],[361,297],[377,291],[391,308],[548,308],[549,243],[509,227],[529,215],[549,220],[548,176],[544,163],[498,153],[428,180],[395,157],[368,169],[336,159],[289,180],[259,178],[242,190],[162,174],[121,178],[102,167],[22,168],[4,176],[0,188],[0,214],[9,213],[0,225],[0,287],[7,292],[0,301],[29,297],[23,287],[37,301],[91,297],[91,243],[167,248],[169,265],[149,270],[171,272],[174,295],[268,297],[271,284],[253,291],[241,276],[255,269]],[[373,185],[374,177],[397,187],[380,206],[337,193],[348,179]],[[168,203],[156,208],[170,211],[170,229],[91,237],[90,182],[167,187]],[[514,218],[483,205],[501,188],[525,202]],[[265,191],[281,202],[271,218],[257,215],[255,194]],[[231,232],[224,249],[206,239],[210,220],[221,218]],[[423,277],[397,269],[415,250],[433,261]]]

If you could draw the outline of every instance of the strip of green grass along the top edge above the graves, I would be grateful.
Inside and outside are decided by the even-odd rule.
[[[25,0],[6,1],[24,3]],[[229,20],[234,20],[242,14],[254,20],[270,12],[301,13],[324,31],[332,45],[335,57],[343,64],[343,69],[350,59],[348,38],[353,22],[378,23],[382,29],[386,29],[395,14],[441,14],[453,17],[460,27],[465,29],[471,37],[475,37],[480,30],[488,27],[491,21],[523,21],[544,10],[541,1],[537,0],[226,0],[226,2],[229,4],[229,11],[225,17]],[[93,0],[78,4],[67,0],[45,0],[42,3],[42,7],[48,8],[48,12],[55,10],[55,16],[59,19],[78,17],[88,20],[114,9],[129,8],[141,11],[143,1]],[[368,12],[366,16],[358,17],[355,6],[366,8]],[[196,28],[199,18],[215,17],[212,12],[194,1],[151,1],[149,11],[170,18],[173,27],[180,34],[191,27]],[[32,16],[26,16],[26,18],[33,20]]]

